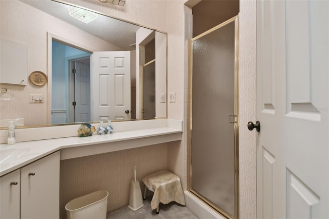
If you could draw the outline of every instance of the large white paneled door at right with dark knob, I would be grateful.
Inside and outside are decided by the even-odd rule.
[[[329,1],[257,1],[258,218],[329,218]]]

